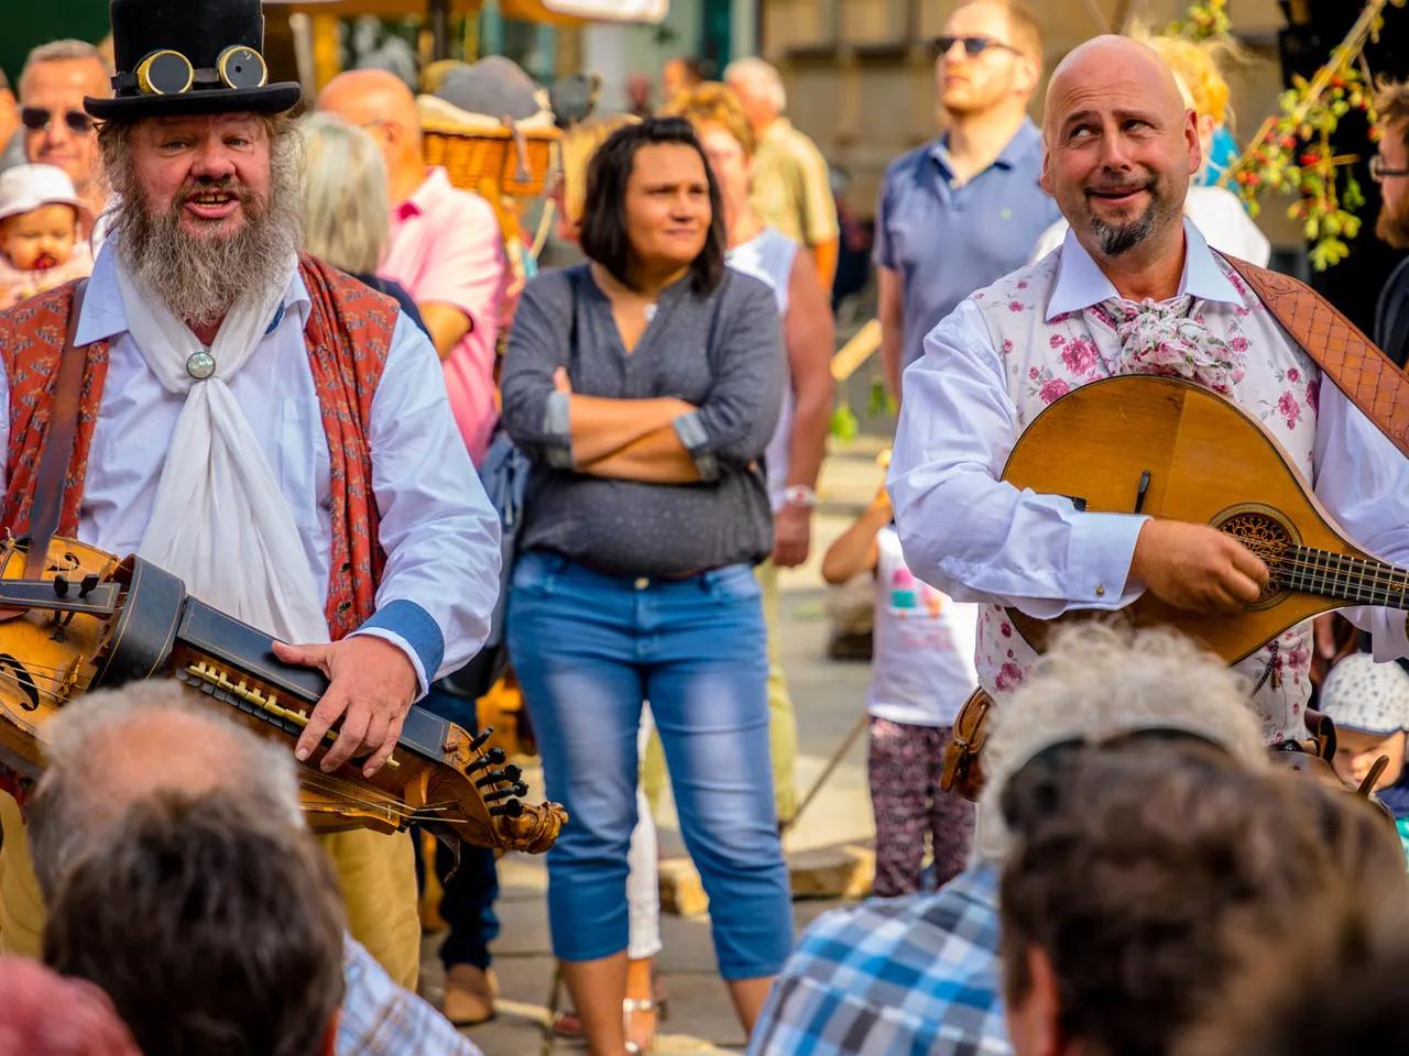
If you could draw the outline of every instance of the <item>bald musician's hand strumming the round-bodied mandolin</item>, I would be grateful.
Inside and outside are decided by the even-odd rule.
[[[1167,604],[1239,612],[1267,586],[1262,559],[1226,532],[1185,521],[1146,521],[1130,572]]]

